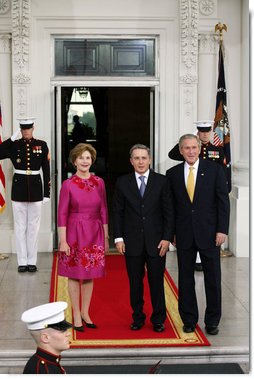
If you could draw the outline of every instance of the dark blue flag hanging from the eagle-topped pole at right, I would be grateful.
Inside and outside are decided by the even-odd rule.
[[[223,45],[220,43],[218,63],[218,84],[216,96],[216,110],[213,126],[213,144],[221,146],[224,150],[228,191],[231,191],[231,153],[230,153],[230,129],[227,110],[227,90],[224,74]]]

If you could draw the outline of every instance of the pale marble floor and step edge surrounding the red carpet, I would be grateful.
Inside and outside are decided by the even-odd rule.
[[[31,354],[35,345],[26,327],[20,320],[22,312],[33,306],[49,301],[49,287],[51,274],[52,254],[38,254],[38,272],[18,273],[16,256],[10,254],[7,259],[0,260],[0,374],[22,373],[24,362]],[[217,336],[208,336],[211,347],[185,350],[165,349],[157,350],[147,354],[142,349],[134,355],[142,355],[145,362],[153,362],[155,357],[163,353],[165,363],[176,363],[181,359],[181,363],[189,363],[188,356],[191,354],[192,362],[239,362],[245,373],[250,373],[249,368],[249,259],[236,257],[222,257],[222,301],[223,315],[220,323],[220,332]],[[167,255],[167,269],[177,283],[177,262],[176,253],[169,252]],[[196,272],[196,290],[200,310],[199,326],[204,330],[204,309],[205,296],[203,285],[203,273]],[[90,359],[90,364],[94,364],[99,355],[96,356],[94,350],[78,352],[71,349],[63,354],[67,364],[86,354]],[[102,349],[107,350],[107,349]],[[138,349],[137,349],[138,350]],[[120,354],[120,352],[118,352]],[[89,356],[90,354],[90,356]],[[100,353],[99,353],[100,354]],[[104,351],[100,360],[108,360],[111,356],[111,364],[124,362],[122,355],[114,359],[110,352]],[[133,353],[129,354],[128,359],[135,361]],[[131,358],[130,358],[131,357]],[[142,363],[144,363],[144,360]],[[68,363],[69,362],[69,363]],[[71,363],[72,362],[72,363]],[[115,364],[116,364],[115,363]],[[123,363],[122,363],[123,364]],[[125,363],[126,364],[126,363]]]

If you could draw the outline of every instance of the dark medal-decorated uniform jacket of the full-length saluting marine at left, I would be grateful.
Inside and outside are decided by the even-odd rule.
[[[34,202],[50,197],[49,149],[45,141],[23,138],[12,141],[10,138],[0,145],[0,159],[9,158],[15,169],[39,171],[40,174],[24,175],[14,173],[11,199],[14,201]]]

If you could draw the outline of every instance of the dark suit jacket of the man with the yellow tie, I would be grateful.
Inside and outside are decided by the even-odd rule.
[[[188,249],[193,240],[199,249],[214,247],[216,233],[228,234],[229,227],[229,197],[222,167],[199,159],[193,203],[185,186],[184,163],[169,169],[166,176],[173,198],[177,248]]]

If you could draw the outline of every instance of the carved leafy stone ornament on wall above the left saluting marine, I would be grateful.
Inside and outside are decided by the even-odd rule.
[[[19,68],[29,61],[30,0],[12,1],[13,59]]]

